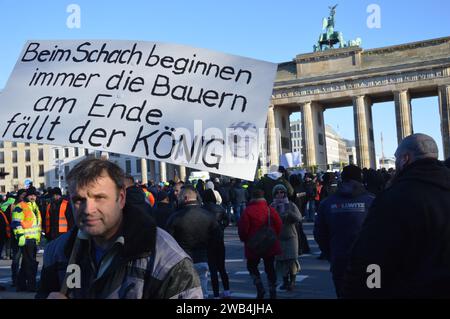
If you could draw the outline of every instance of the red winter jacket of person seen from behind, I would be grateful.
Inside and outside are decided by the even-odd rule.
[[[245,257],[247,259],[255,259],[257,256],[247,247],[247,241],[264,225],[268,224],[270,209],[270,226],[277,236],[280,236],[283,223],[277,211],[267,205],[264,199],[252,200],[247,205],[239,219],[238,233],[239,238],[245,244]],[[277,239],[272,249],[264,257],[271,257],[281,254],[280,241]]]

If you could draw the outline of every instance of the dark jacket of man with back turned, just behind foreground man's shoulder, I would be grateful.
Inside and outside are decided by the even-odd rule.
[[[194,264],[208,261],[208,245],[217,243],[221,230],[214,216],[197,202],[187,202],[172,214],[167,231],[181,248],[191,256]]]

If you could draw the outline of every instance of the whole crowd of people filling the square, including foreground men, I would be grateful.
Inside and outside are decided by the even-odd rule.
[[[3,196],[0,256],[12,259],[16,289],[37,298],[206,298],[208,273],[213,298],[230,298],[224,231],[237,226],[256,297],[266,293],[262,260],[276,298],[278,283],[295,289],[298,257],[311,252],[303,222],[314,222],[339,298],[448,297],[449,160],[438,161],[436,143],[423,134],[405,138],[395,156],[396,170],[272,166],[252,182],[147,185],[107,160],[87,159],[67,176],[64,195],[31,186]],[[266,225],[276,240],[256,254],[248,241]],[[38,285],[41,241],[48,243]],[[69,264],[80,265],[81,287],[67,286]],[[377,289],[367,285],[370,265],[382,271]]]

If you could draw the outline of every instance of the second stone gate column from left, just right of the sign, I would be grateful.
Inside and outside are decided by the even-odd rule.
[[[303,164],[309,167],[316,164],[316,145],[314,143],[314,127],[311,102],[303,103],[301,105],[301,112]]]

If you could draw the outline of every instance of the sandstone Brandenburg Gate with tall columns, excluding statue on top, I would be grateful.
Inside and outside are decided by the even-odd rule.
[[[289,115],[300,111],[304,165],[326,167],[323,112],[353,106],[357,164],[375,168],[372,105],[395,101],[400,142],[414,133],[411,100],[429,96],[439,96],[444,157],[448,158],[450,37],[371,50],[349,46],[297,55],[278,66],[267,118],[269,161],[277,164],[280,151],[290,151]],[[281,147],[275,128],[281,134]]]

